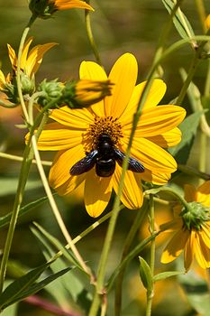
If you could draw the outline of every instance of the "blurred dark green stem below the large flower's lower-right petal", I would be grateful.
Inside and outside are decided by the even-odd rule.
[[[147,210],[148,203],[144,203],[142,209],[139,209],[137,211],[137,215],[135,220],[133,221],[132,228],[130,229],[128,236],[126,237],[124,241],[123,246],[123,255],[121,262],[123,262],[123,259],[128,255],[129,249],[132,245],[133,238],[135,237],[136,233],[139,231],[141,227],[142,220],[145,216],[146,210]],[[122,288],[123,288],[123,275],[126,269],[126,265],[124,265],[121,272],[118,274],[117,280],[116,280],[116,286],[115,286],[115,316],[121,315],[121,305],[122,305]]]

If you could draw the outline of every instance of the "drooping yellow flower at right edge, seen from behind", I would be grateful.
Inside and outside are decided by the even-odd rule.
[[[202,268],[210,267],[210,181],[205,181],[196,190],[192,185],[185,185],[185,199],[191,212],[181,212],[178,205],[176,218],[162,225],[168,232],[175,233],[161,256],[161,262],[167,264],[176,259],[184,250],[186,270],[194,256]]]

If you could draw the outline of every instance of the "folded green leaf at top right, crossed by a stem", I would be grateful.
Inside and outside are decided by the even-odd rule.
[[[172,0],[162,0],[163,5],[165,5],[166,9],[168,10],[169,14],[172,13],[174,6],[176,5]],[[183,14],[181,9],[178,7],[176,14],[173,16],[173,23],[179,33],[179,35],[183,39],[192,38],[195,36],[192,26],[190,25],[189,21],[187,20],[187,16]],[[196,46],[196,42],[192,40],[194,46]]]

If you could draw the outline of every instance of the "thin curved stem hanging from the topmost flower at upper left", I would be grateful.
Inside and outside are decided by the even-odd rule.
[[[24,42],[25,39],[30,31],[30,28],[32,26],[32,23],[35,21],[36,19],[36,15],[32,15],[28,25],[26,26],[26,28],[23,31],[23,35],[21,38],[21,42],[19,45],[19,49],[18,49],[18,56],[17,56],[17,91],[18,91],[18,96],[20,98],[20,103],[21,103],[21,107],[23,109],[23,115],[24,118],[26,120],[26,122],[28,122],[29,120],[29,116],[28,116],[28,112],[27,109],[25,107],[25,103],[24,103],[24,99],[23,99],[23,92],[22,92],[22,84],[21,84],[21,59],[22,59],[22,54],[23,54],[23,46],[24,46]]]

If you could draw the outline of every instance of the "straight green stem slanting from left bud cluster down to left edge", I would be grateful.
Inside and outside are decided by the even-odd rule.
[[[42,118],[41,125],[37,131],[36,136],[40,135],[44,124],[45,124],[45,116],[43,116],[43,118]],[[24,188],[26,185],[26,181],[28,179],[30,167],[32,165],[33,150],[32,150],[32,146],[31,146],[31,142],[32,142],[32,131],[30,134],[29,142],[28,142],[28,144],[26,144],[25,150],[23,153],[23,163],[22,163],[20,177],[19,177],[19,181],[18,181],[17,192],[16,192],[15,199],[14,199],[14,208],[13,208],[12,217],[10,220],[10,225],[9,225],[9,229],[8,229],[8,233],[7,233],[6,241],[5,241],[5,249],[4,249],[4,254],[2,257],[1,269],[0,269],[0,271],[1,271],[1,274],[0,274],[0,293],[2,293],[2,291],[3,291],[6,266],[7,266],[13,238],[14,238],[14,229],[16,226],[19,210],[21,208],[21,204],[23,201]]]

